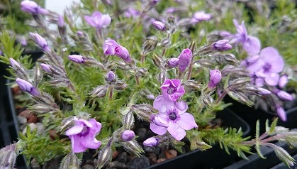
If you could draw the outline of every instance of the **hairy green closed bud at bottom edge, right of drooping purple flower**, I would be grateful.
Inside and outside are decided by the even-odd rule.
[[[112,139],[108,141],[106,146],[99,151],[98,163],[96,168],[103,168],[103,166],[111,159],[113,151],[111,150]]]

